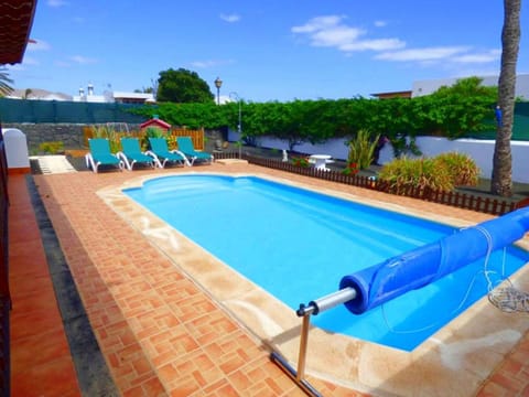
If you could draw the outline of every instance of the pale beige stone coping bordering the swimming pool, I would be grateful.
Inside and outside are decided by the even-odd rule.
[[[125,194],[122,193],[123,189],[141,186],[144,181],[151,179],[184,174],[205,173],[191,171],[184,173],[166,173],[163,175],[141,175],[121,184],[104,187],[99,190],[97,194],[131,227],[139,230],[165,256],[172,258],[173,262],[175,262],[175,265],[187,277],[190,277],[196,285],[201,286],[201,289],[208,293],[212,299],[219,302],[219,304],[233,318],[235,318],[238,323],[241,323],[246,330],[257,336],[262,343],[280,351],[281,354],[283,354],[290,362],[295,363],[298,358],[299,332],[298,335],[292,335],[292,330],[295,330],[300,326],[301,320],[295,316],[295,314],[290,308],[287,308],[284,304],[281,303],[279,305],[279,309],[281,309],[282,305],[283,309],[285,309],[288,312],[281,313],[279,318],[277,316],[277,314],[268,315],[272,320],[276,318],[279,319],[277,321],[273,320],[273,322],[276,323],[288,323],[288,325],[283,325],[283,331],[279,334],[270,335],[267,333],[263,334],[262,330],[256,331],[256,328],[262,328],[262,324],[258,324],[257,326],[248,326],[248,318],[255,315],[255,311],[250,314],[248,312],[245,312],[245,310],[248,310],[248,308],[244,308],[245,310],[241,311],[240,303],[230,302],[230,298],[233,296],[236,296],[237,298],[231,298],[231,300],[235,299],[239,302],[247,302],[248,300],[250,302],[257,302],[260,300],[269,300],[269,298],[272,298],[273,300],[277,299],[263,292],[262,290],[250,291],[247,285],[248,280],[242,280],[244,282],[240,282],[244,286],[244,290],[235,294],[233,294],[231,290],[229,292],[212,292],[212,290],[215,290],[216,282],[218,282],[219,279],[226,278],[227,275],[228,278],[233,277],[234,275],[231,272],[228,272],[227,275],[226,272],[224,272],[222,275],[214,276],[209,271],[207,272],[207,275],[201,275],[201,271],[204,271],[204,267],[202,268],[202,270],[196,269],[197,257],[201,258],[198,260],[198,262],[201,262],[203,261],[204,255],[208,255],[209,257],[206,260],[207,266],[218,266],[219,262],[220,265],[223,265],[223,267],[226,267],[226,265],[219,261],[217,258],[210,256],[210,254],[198,247],[193,242],[188,240],[185,236],[181,235],[176,230],[171,238],[174,238],[176,242],[179,242],[179,244],[181,244],[180,248],[184,247],[184,251],[185,249],[191,249],[193,251],[192,255],[188,255],[188,253],[184,253],[182,249],[175,250],[174,247],[171,247],[171,245],[168,244],[168,242],[171,240],[171,238],[169,237],[162,240],[153,238],[152,234],[149,236],[149,233],[147,233],[145,235],[145,230],[149,230],[149,228],[145,229],[145,213],[143,207],[141,207],[137,203],[133,203],[132,200],[128,197],[125,201],[122,200],[125,197]],[[284,178],[276,178],[268,174],[260,174],[258,172],[207,172],[207,174],[229,176],[252,175],[315,191],[313,186],[306,185],[304,183],[299,183],[296,181]],[[319,189],[317,193],[332,193],[331,195],[334,196],[338,196],[342,198],[345,197],[366,204],[365,198],[356,196],[354,194],[332,191],[330,189]],[[368,205],[378,203],[379,206],[390,211],[395,211],[395,208],[399,208],[401,211],[409,210],[403,208],[398,204],[388,204],[375,200],[367,200],[367,202],[370,203],[367,203]],[[126,207],[125,211],[123,207]],[[408,215],[409,212],[407,213]],[[433,216],[435,218],[435,222],[442,221],[441,223],[456,227],[464,227],[472,224],[469,222],[462,222],[461,219],[440,216],[439,214],[432,214],[424,211],[414,210],[411,212],[413,213],[413,216]],[[136,221],[131,221],[129,218],[129,215],[140,215],[140,217]],[[149,219],[150,222],[150,226],[153,226],[156,229],[159,229],[160,227],[164,227],[164,224],[161,219],[156,218],[152,214],[147,215],[151,215],[147,216],[147,219]],[[141,218],[142,216],[143,218]],[[449,221],[455,221],[456,224],[454,225]],[[153,228],[151,227],[151,230]],[[528,246],[527,237],[523,245]],[[235,272],[235,270],[231,271]],[[514,279],[517,281],[522,280],[523,283],[527,283],[527,286],[529,287],[529,270],[520,269],[514,276]],[[261,293],[266,294],[262,296]],[[272,305],[273,310],[278,310],[277,304]],[[267,312],[269,309],[270,308],[259,308],[259,310],[262,310],[264,312]],[[488,311],[489,313],[487,313],[487,309],[493,309],[494,313],[490,313],[492,311]],[[472,313],[473,316],[479,314],[482,316],[482,321],[479,321],[479,324],[468,324],[468,315],[466,315],[467,313]],[[498,315],[494,314],[499,314],[500,320],[496,319],[495,321],[495,318]],[[485,319],[483,316],[486,318],[486,321],[484,321]],[[482,324],[482,322],[484,322],[484,324]],[[495,326],[492,326],[493,323],[497,324]],[[496,365],[501,362],[503,357],[514,347],[514,345],[518,342],[519,337],[521,337],[523,333],[529,329],[529,324],[525,324],[523,321],[514,321],[510,314],[501,313],[488,305],[486,298],[476,302],[465,312],[465,315],[455,319],[449,325],[446,326],[446,329],[439,331],[431,339],[429,339],[427,342],[424,342],[410,353],[392,350],[390,347],[380,346],[369,342],[354,340],[347,336],[342,337],[342,335],[336,334],[331,334],[330,337],[328,333],[313,328],[311,330],[309,344],[307,372],[316,377],[335,382],[346,387],[353,387],[359,390],[380,388],[384,384],[385,388],[389,387],[389,389],[392,391],[400,390],[400,393],[407,394],[418,393],[419,390],[421,393],[424,393],[429,389],[430,393],[433,394],[435,389],[439,390],[439,387],[443,387],[444,390],[447,393],[453,391],[452,395],[466,396],[472,395],[477,389],[477,387],[483,383],[483,380],[485,380],[488,375],[495,369]],[[503,333],[501,331],[505,331],[506,328],[510,328],[511,332],[507,334]],[[519,332],[518,339],[516,339],[517,332]],[[333,342],[331,344],[328,343],[330,339]],[[323,347],[320,348],[319,346]],[[462,357],[461,353],[465,352],[465,347],[468,348],[469,346],[474,347],[473,351],[467,351],[466,354],[464,354],[464,356]],[[477,347],[479,347],[481,350],[479,352],[475,353],[474,350],[476,350]],[[322,356],[325,355],[328,351],[334,354],[334,357],[331,357],[330,360],[322,360]],[[432,356],[432,352],[436,352],[436,354]],[[388,357],[388,355],[391,357]],[[344,366],[344,361],[348,361],[350,363]],[[395,365],[395,362],[399,362],[400,364]],[[467,365],[465,364],[472,365],[469,365],[469,368],[467,368]],[[336,369],[336,367],[338,366],[342,368],[339,374],[330,375],[328,373],[326,373],[328,368]],[[379,371],[380,368],[382,371]],[[464,368],[465,371],[462,371],[462,368]],[[424,382],[421,382],[419,385],[417,385],[418,377],[422,378],[424,382],[428,379],[429,383],[425,384]],[[455,382],[454,379],[456,378],[458,378],[460,380]],[[446,388],[447,382],[452,383],[453,385],[456,385],[457,383],[463,383],[463,385],[465,386],[453,386],[454,389],[450,390]],[[415,385],[415,387],[420,388],[412,390],[409,388],[410,385]]]

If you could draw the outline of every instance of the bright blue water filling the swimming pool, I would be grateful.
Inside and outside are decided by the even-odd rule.
[[[345,275],[456,232],[253,176],[165,176],[123,192],[293,310],[337,291]],[[487,269],[499,278],[527,261],[529,254],[511,246],[493,253]],[[339,305],[312,322],[411,351],[487,293],[484,262],[360,315]]]

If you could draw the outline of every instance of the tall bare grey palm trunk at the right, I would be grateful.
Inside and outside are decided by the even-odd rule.
[[[515,110],[516,63],[520,43],[521,0],[504,0],[504,29],[501,31],[501,71],[498,82],[498,118],[494,147],[490,192],[504,197],[512,195],[512,154],[510,137]]]

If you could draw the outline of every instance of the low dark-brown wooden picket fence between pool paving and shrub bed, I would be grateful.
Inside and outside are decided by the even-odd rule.
[[[220,152],[215,153],[215,159],[230,159],[238,158],[236,152]],[[376,190],[384,193],[396,194],[391,191],[389,184],[378,181],[376,179],[363,175],[346,175],[338,171],[323,171],[316,170],[314,168],[304,168],[299,165],[293,165],[290,162],[283,162],[276,159],[266,159],[255,155],[249,155],[242,153],[242,159],[247,160],[251,164],[261,165],[271,168],[274,170],[281,170],[285,172],[296,173],[300,175],[306,175],[312,178],[322,179],[325,181],[344,183],[353,186],[358,186],[363,189]],[[529,198],[520,201],[519,203],[482,197],[473,194],[461,193],[461,192],[441,192],[433,190],[422,190],[417,187],[410,187],[398,192],[399,195],[409,196],[413,198],[424,200],[428,202],[450,205],[458,208],[465,208],[471,211],[476,211],[485,214],[492,215],[503,215],[508,212],[511,212],[523,205],[529,205]],[[527,203],[526,203],[527,202]]]

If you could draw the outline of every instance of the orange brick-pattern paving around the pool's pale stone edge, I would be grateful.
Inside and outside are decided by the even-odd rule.
[[[190,169],[156,170],[154,174]],[[489,216],[253,165],[194,172],[257,172],[476,223]],[[152,171],[35,175],[82,300],[123,396],[303,396],[269,351],[96,194]],[[527,314],[521,314],[527,315]],[[477,396],[529,395],[526,334]],[[364,396],[309,377],[324,396]]]

